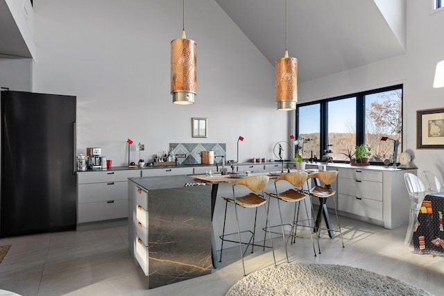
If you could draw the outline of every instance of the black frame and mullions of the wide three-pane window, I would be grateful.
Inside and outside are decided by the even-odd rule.
[[[316,153],[319,153],[319,155],[321,155],[320,159],[322,159],[322,152],[323,152],[323,147],[325,147],[325,145],[327,145],[327,141],[328,141],[328,103],[332,102],[332,101],[338,101],[338,100],[344,100],[347,98],[352,98],[352,97],[356,97],[356,146],[359,146],[361,144],[365,144],[365,139],[366,139],[366,101],[365,101],[365,97],[370,95],[370,94],[377,94],[377,93],[381,93],[381,92],[389,92],[395,89],[400,89],[401,90],[401,114],[402,114],[402,125],[401,125],[401,134],[403,134],[404,132],[404,85],[400,84],[400,85],[391,85],[388,87],[381,87],[379,89],[371,89],[368,91],[364,91],[364,92],[357,92],[354,94],[346,94],[343,96],[336,96],[333,98],[325,98],[322,100],[318,100],[318,101],[311,101],[311,102],[307,102],[307,103],[298,103],[298,105],[296,105],[296,120],[295,120],[295,130],[296,130],[296,135],[297,137],[299,137],[299,108],[300,107],[305,107],[308,105],[314,105],[314,104],[320,104],[320,123],[319,123],[319,127],[320,127],[320,131],[319,131],[319,148],[321,149],[320,151],[316,151]],[[403,137],[404,138],[404,137]],[[404,147],[404,141],[402,141],[401,143],[401,151],[403,151],[403,147]],[[336,163],[343,163],[343,160],[334,160],[333,162]],[[370,164],[377,164],[380,165],[382,164],[382,162],[371,162]]]

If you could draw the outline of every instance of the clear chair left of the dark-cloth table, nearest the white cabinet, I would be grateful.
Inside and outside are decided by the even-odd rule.
[[[410,197],[410,216],[409,216],[409,225],[407,227],[407,234],[405,236],[404,243],[410,243],[411,236],[413,236],[413,228],[415,227],[416,222],[418,221],[418,214],[422,204],[422,201],[425,198],[426,191],[425,186],[421,182],[421,180],[412,173],[404,174],[405,186],[407,187],[407,192]]]

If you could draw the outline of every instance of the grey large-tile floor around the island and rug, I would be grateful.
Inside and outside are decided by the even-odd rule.
[[[341,218],[340,238],[321,235],[322,254],[314,256],[309,234],[289,245],[290,261],[334,263],[365,268],[428,290],[444,291],[444,259],[411,254],[404,245],[407,227],[388,230]],[[305,236],[307,236],[305,238]],[[278,264],[284,264],[282,238],[273,239]],[[146,278],[128,252],[125,226],[0,239],[12,244],[0,263],[0,289],[20,295],[224,295],[242,278],[239,248],[224,250],[211,275],[146,290]],[[271,250],[246,256],[247,273],[273,265]],[[0,293],[1,295],[1,293]]]

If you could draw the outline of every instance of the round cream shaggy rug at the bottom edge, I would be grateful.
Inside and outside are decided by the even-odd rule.
[[[432,295],[398,279],[332,264],[286,264],[253,272],[225,295]]]

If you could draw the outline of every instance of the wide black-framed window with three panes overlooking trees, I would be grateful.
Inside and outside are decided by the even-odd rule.
[[[399,140],[398,156],[402,152],[402,85],[301,103],[296,114],[296,134],[312,139],[303,147],[305,159],[313,153],[322,160],[349,161],[355,146],[366,143],[370,162],[393,161],[394,141],[382,137]]]

